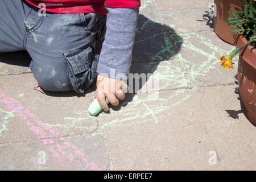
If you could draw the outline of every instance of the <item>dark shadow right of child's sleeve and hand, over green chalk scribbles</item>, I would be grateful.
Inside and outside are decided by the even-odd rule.
[[[139,15],[130,73],[138,73],[138,75],[154,73],[161,61],[171,60],[172,57],[179,53],[182,43],[183,39],[171,27],[166,24],[156,23],[144,15]],[[135,80],[140,82],[138,89],[141,89],[146,84],[145,82],[142,83],[141,78],[133,78],[133,85],[136,85]],[[112,109],[119,110],[121,107],[126,106],[127,102],[133,100],[138,89],[134,86],[133,88],[130,86],[129,89],[129,92],[131,89],[133,89],[133,92],[126,94],[125,100],[120,101],[118,106],[112,106]]]

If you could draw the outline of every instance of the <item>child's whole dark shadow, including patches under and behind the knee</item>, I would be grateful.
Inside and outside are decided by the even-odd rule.
[[[101,49],[103,41],[104,38],[97,44],[98,51]],[[170,60],[180,51],[182,43],[183,39],[171,27],[166,24],[156,23],[144,15],[139,15],[130,73],[138,73],[138,75],[141,75],[141,73],[145,73],[146,75],[154,73],[161,61]],[[5,59],[4,62],[28,67],[30,56],[25,51],[22,51],[21,55],[23,55],[26,61],[20,63],[20,57],[19,59],[14,59],[17,57],[15,56],[16,54],[20,55],[20,52],[7,53],[8,59]],[[2,55],[0,55],[0,60],[3,60]],[[11,62],[9,62],[10,60]],[[142,86],[143,84],[140,84],[138,89],[141,89]],[[126,94],[125,100],[120,101],[118,106],[112,106],[112,108],[119,110],[121,107],[126,106],[127,102],[133,100],[138,89],[134,89],[134,92],[131,94]],[[44,93],[53,97],[85,97],[87,93],[95,90],[96,82],[89,89],[85,90],[83,94],[77,94],[75,92],[49,92],[46,90],[44,90]]]

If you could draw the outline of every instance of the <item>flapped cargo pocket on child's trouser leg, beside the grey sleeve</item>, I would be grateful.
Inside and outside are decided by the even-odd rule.
[[[92,47],[84,47],[75,51],[65,52],[68,63],[69,85],[77,93],[84,93],[97,77],[98,55]]]

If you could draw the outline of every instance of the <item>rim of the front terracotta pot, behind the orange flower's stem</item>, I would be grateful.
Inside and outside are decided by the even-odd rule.
[[[247,39],[244,35],[241,34],[241,32],[237,32],[237,34],[234,34],[234,46],[236,46],[236,48],[242,46],[243,44],[246,44],[247,42]],[[256,48],[249,44],[239,53],[248,64],[256,69]],[[251,59],[251,57],[255,57],[255,59]]]

